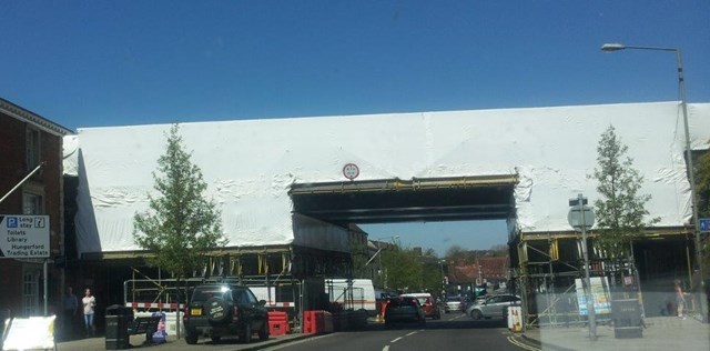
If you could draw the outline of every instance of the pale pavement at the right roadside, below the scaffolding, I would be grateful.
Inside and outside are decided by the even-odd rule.
[[[530,328],[519,337],[541,350],[710,350],[710,324],[698,319],[652,317],[645,322],[641,338],[617,339],[611,325],[598,325],[594,341],[586,325]]]

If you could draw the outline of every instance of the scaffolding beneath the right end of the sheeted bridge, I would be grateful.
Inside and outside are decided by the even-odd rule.
[[[641,307],[665,303],[665,287],[673,279],[690,281],[689,250],[692,237],[686,228],[649,229],[631,245],[631,260],[610,260],[594,245],[595,233],[588,238],[589,270],[592,278],[600,278],[610,299],[639,299]],[[523,313],[527,327],[584,324],[587,315],[580,311],[578,290],[584,282],[581,235],[569,232],[519,232],[515,238],[517,249],[516,279],[523,299]],[[641,255],[637,251],[641,251]],[[652,264],[655,253],[663,250],[672,253],[667,268]],[[651,257],[651,259],[649,259]],[[641,270],[639,270],[639,262]],[[645,301],[642,280],[649,282],[645,289],[652,297]],[[646,303],[645,303],[646,302]],[[643,311],[643,310],[642,310]],[[647,313],[643,311],[643,313]],[[600,315],[599,323],[609,320]]]

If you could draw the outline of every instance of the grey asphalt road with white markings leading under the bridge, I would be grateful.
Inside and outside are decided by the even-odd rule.
[[[506,327],[503,320],[474,321],[463,313],[448,313],[438,321],[427,320],[427,325],[423,329],[406,325],[385,329],[379,324],[372,325],[367,331],[315,337],[266,350],[534,350],[511,342],[508,339],[511,333]]]

